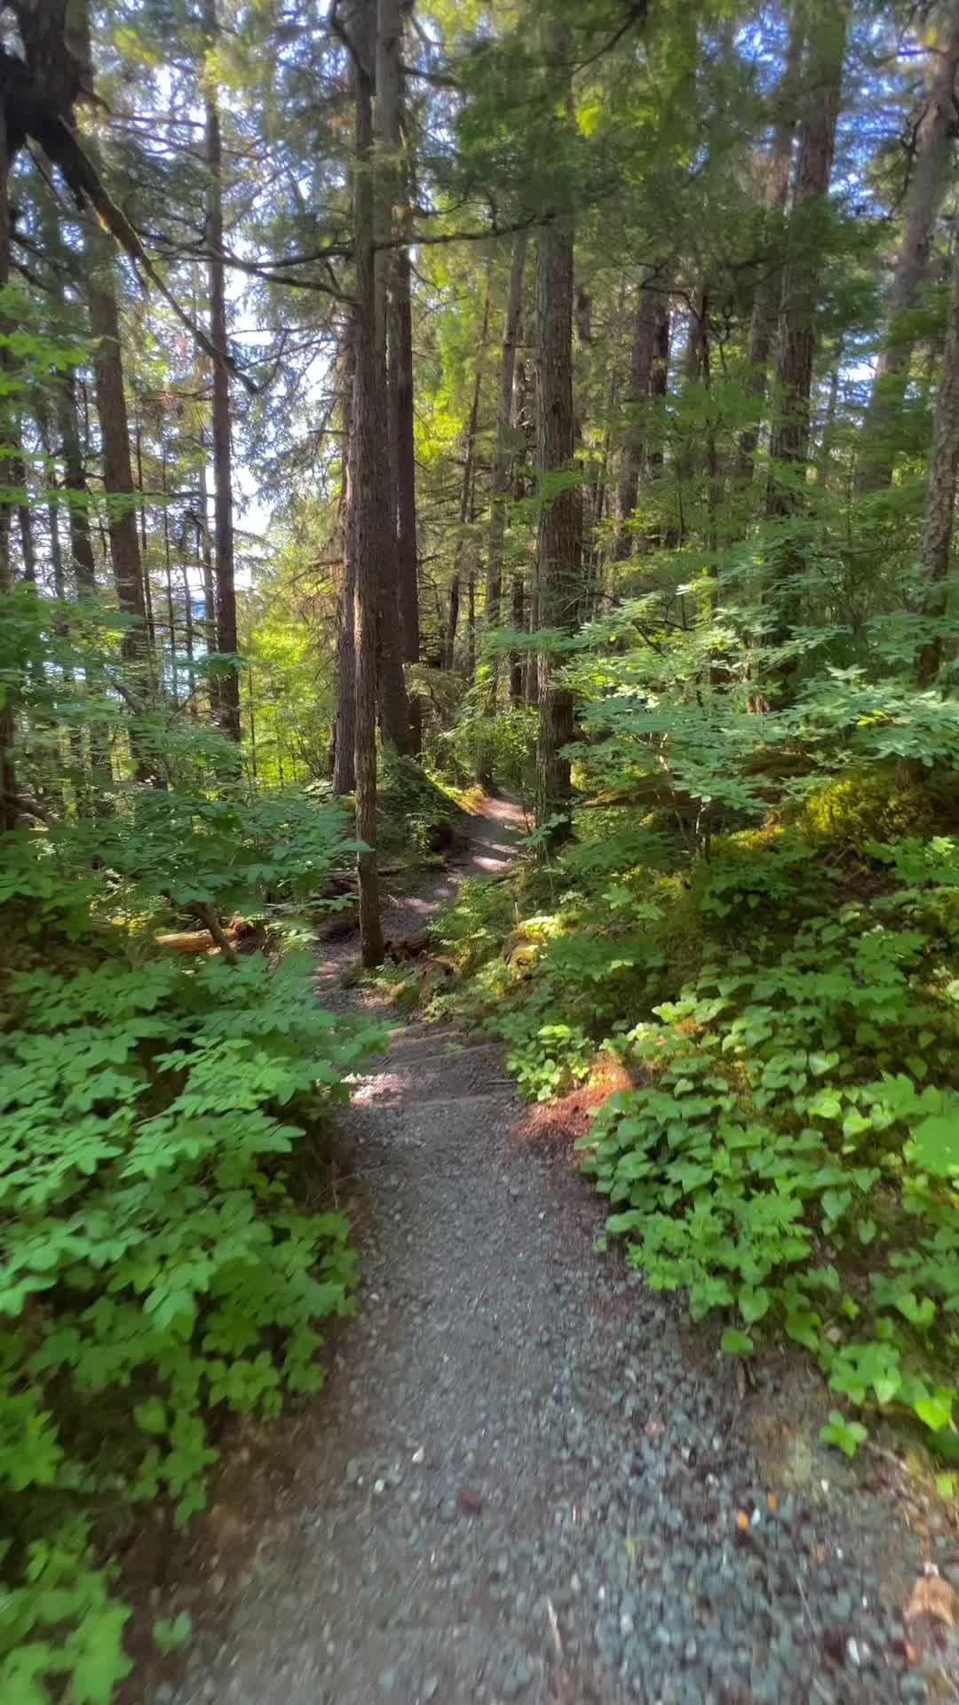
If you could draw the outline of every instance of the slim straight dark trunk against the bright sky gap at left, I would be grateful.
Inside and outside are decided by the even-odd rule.
[[[206,51],[217,43],[217,0],[205,0]],[[235,656],[237,593],[234,554],[234,467],[230,442],[230,373],[227,365],[227,285],[224,266],[224,140],[220,111],[210,73],[205,75],[206,118],[206,246],[210,251],[210,343],[213,346],[213,573],[217,578],[217,651]],[[232,667],[217,682],[215,701],[220,728],[241,738],[239,670]]]

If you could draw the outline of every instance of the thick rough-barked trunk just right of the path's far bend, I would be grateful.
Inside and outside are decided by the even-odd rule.
[[[556,32],[563,34],[565,32]],[[560,46],[556,43],[556,46]],[[541,227],[536,239],[536,464],[544,488],[573,465],[573,234],[567,218]],[[546,496],[539,515],[538,587],[541,627],[570,633],[580,595],[580,491],[567,486]],[[573,735],[573,696],[556,682],[556,663],[539,653],[539,738],[536,748],[536,820],[555,815],[549,842],[568,834],[570,760],[561,750]]]

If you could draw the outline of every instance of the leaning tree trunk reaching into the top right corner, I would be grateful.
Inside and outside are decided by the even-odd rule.
[[[884,491],[892,479],[896,419],[910,373],[913,341],[903,336],[901,317],[920,302],[928,273],[935,217],[945,189],[949,148],[956,126],[956,70],[959,68],[959,0],[947,0],[942,32],[933,51],[933,77],[916,128],[916,160],[906,201],[906,223],[896,259],[886,343],[881,351],[860,440],[857,491]]]

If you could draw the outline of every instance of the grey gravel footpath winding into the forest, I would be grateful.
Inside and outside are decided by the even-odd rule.
[[[387,934],[500,871],[519,830],[486,801]],[[355,957],[324,948],[324,1004],[375,1008],[341,982]],[[892,1453],[819,1446],[799,1357],[744,1386],[718,1330],[597,1257],[602,1204],[527,1115],[500,1049],[450,1028],[399,1025],[357,1084],[358,1316],[316,1405],[232,1451],[193,1575],[154,1596],[191,1611],[193,1647],[140,1698],[956,1698],[949,1616],[904,1615],[923,1563],[959,1584],[956,1531]]]

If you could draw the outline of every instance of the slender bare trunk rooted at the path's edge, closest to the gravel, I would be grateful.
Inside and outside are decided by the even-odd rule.
[[[355,84],[355,382],[352,433],[353,542],[357,552],[357,885],[360,953],[363,965],[382,960],[382,924],[377,881],[377,750],[375,750],[375,627],[381,558],[387,537],[386,469],[381,452],[381,421],[386,363],[377,336],[375,293],[375,198],[374,198],[374,75],[375,0],[358,0],[353,12],[358,51]],[[358,26],[358,27],[357,27]]]

